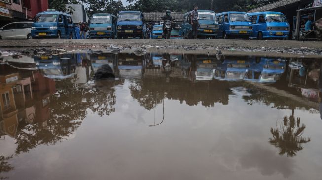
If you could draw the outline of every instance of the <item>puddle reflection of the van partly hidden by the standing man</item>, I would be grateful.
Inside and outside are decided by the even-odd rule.
[[[196,80],[212,80],[217,67],[215,57],[197,55]]]

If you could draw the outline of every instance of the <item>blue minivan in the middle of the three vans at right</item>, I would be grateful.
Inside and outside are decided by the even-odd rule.
[[[252,34],[252,24],[245,12],[223,12],[217,14],[219,23],[219,38],[249,39]]]

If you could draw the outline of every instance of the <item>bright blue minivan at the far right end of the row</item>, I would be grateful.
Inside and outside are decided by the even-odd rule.
[[[250,38],[288,39],[289,24],[283,13],[280,12],[255,12],[249,13],[253,25],[253,33]]]

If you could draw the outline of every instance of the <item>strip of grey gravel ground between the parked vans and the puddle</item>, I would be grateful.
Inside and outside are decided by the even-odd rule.
[[[128,48],[184,50],[196,53],[221,50],[226,54],[257,54],[301,57],[322,57],[322,42],[280,40],[224,40],[224,39],[36,39],[0,40],[0,48],[61,47],[65,49],[100,49],[110,45]]]

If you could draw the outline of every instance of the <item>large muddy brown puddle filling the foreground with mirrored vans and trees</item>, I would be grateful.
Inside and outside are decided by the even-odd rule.
[[[0,57],[0,179],[321,179],[321,60],[42,51]]]

